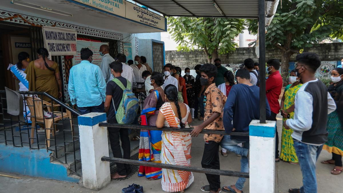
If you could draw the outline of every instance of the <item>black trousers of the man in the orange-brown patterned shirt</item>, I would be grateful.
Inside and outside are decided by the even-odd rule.
[[[204,154],[202,155],[201,166],[203,168],[218,169],[219,164],[219,143],[215,141],[206,141]],[[220,175],[206,174],[207,181],[210,184],[210,189],[217,192],[220,188]]]

